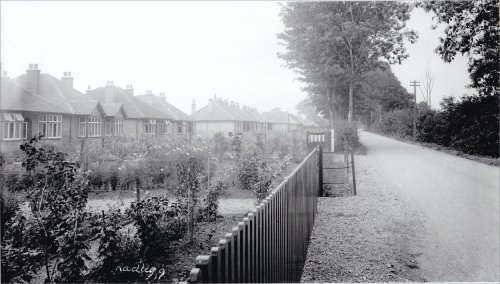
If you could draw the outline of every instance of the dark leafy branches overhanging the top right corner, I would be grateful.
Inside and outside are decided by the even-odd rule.
[[[469,57],[471,87],[480,95],[499,91],[500,41],[498,0],[429,1],[418,4],[447,25],[436,52],[445,62],[457,55]],[[434,26],[435,28],[436,26]]]

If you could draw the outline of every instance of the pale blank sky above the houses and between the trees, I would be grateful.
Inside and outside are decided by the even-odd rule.
[[[10,77],[38,63],[56,77],[71,71],[82,92],[106,81],[133,84],[136,94],[165,93],[186,113],[193,99],[200,108],[214,94],[259,111],[292,112],[307,96],[276,56],[283,24],[275,2],[0,3],[1,62]],[[393,71],[410,90],[409,81],[423,78],[429,66],[435,103],[470,91],[466,60],[445,64],[433,52],[442,28],[431,24],[430,15],[413,12],[409,27],[419,42]]]

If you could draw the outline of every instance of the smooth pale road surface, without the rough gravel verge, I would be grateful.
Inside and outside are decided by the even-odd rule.
[[[499,281],[499,168],[360,132],[387,189],[422,217],[428,281]],[[362,189],[359,189],[362,191]]]

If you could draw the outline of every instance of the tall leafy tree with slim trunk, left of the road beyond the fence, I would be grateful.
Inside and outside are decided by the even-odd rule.
[[[381,59],[401,63],[408,57],[403,42],[417,38],[405,29],[410,10],[398,2],[289,2],[280,14],[285,31],[278,38],[286,52],[279,56],[306,82],[324,89],[330,103],[337,83],[347,81],[352,121],[353,92],[361,74]]]

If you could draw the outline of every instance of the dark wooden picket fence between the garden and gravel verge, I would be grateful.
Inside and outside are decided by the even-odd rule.
[[[321,150],[314,149],[269,196],[196,258],[190,283],[300,282],[320,196]]]

